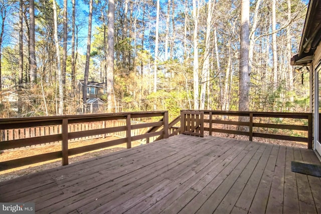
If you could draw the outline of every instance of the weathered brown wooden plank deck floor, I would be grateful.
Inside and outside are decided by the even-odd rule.
[[[0,183],[39,213],[321,213],[311,150],[179,135]]]

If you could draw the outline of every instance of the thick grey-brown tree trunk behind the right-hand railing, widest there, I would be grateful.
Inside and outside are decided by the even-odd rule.
[[[249,0],[241,0],[239,111],[249,111],[249,6]],[[242,121],[242,118],[240,119]]]

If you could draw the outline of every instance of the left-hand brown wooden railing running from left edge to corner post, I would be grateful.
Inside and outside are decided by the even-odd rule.
[[[142,124],[131,124],[131,120],[135,119],[152,119],[154,121],[158,118],[162,118],[161,121],[146,122]],[[91,122],[104,121],[108,124],[110,121],[125,120],[125,125],[117,127],[96,127],[87,131],[72,130],[70,127],[75,124],[86,124]],[[60,134],[51,134],[49,131],[45,136],[34,137],[30,132],[28,134],[22,133],[21,130],[28,128],[41,127],[45,132],[46,127],[57,126],[57,129],[61,130]],[[158,127],[157,130],[148,132],[141,135],[132,136],[132,130],[145,129],[150,127]],[[0,119],[0,130],[12,130],[12,132],[19,135],[19,139],[11,139],[0,142],[0,151],[26,147],[31,145],[39,145],[49,142],[61,142],[61,151],[50,152],[45,154],[39,154],[30,157],[18,158],[14,160],[8,160],[0,162],[0,170],[15,168],[19,166],[29,165],[33,163],[53,160],[62,158],[62,165],[68,164],[68,157],[70,155],[76,155],[92,150],[97,150],[109,146],[115,146],[126,143],[127,148],[131,148],[131,142],[140,139],[148,139],[159,136],[159,138],[169,137],[169,121],[168,112],[140,112],[140,113],[116,113],[116,114],[99,114],[99,115],[81,115],[81,116],[56,116],[56,117],[36,117],[36,118],[12,118],[12,119]],[[40,129],[41,130],[41,129]],[[68,148],[68,142],[72,139],[84,138],[88,136],[106,135],[110,133],[126,132],[124,138],[110,140],[106,142],[91,144],[87,146]],[[24,136],[24,137],[21,137]],[[148,142],[147,142],[148,143]]]

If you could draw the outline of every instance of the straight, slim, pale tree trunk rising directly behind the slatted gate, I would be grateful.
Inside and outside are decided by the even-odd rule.
[[[194,59],[193,59],[193,88],[194,88],[194,109],[199,109],[199,56],[198,56],[198,9],[196,0],[193,0],[193,20],[194,20],[194,33],[193,33],[193,43],[194,43]]]

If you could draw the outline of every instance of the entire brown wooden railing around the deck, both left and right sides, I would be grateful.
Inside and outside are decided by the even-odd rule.
[[[239,117],[245,120],[239,121]],[[133,122],[137,120],[145,122]],[[287,124],[276,123],[277,120],[286,121]],[[51,127],[58,131],[53,131]],[[275,130],[287,131],[277,133]],[[0,152],[51,142],[61,144],[60,151],[0,162],[0,170],[6,170],[57,158],[62,158],[62,165],[67,165],[71,155],[124,143],[127,148],[131,148],[131,142],[134,141],[145,139],[149,143],[182,133],[203,137],[204,132],[209,132],[209,135],[218,132],[248,136],[249,141],[253,137],[297,141],[307,143],[311,149],[312,114],[184,110],[171,123],[167,111],[14,118],[0,119],[0,132],[3,133]],[[112,135],[119,138],[104,140],[104,137]],[[100,136],[102,142],[76,148],[68,146],[75,139],[89,139],[93,136]]]

